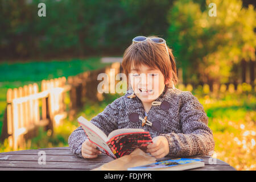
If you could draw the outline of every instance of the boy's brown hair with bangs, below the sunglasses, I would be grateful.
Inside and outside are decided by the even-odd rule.
[[[150,36],[148,38],[156,38],[156,36]],[[150,68],[159,69],[164,75],[164,81],[172,77],[168,86],[172,87],[177,84],[177,70],[174,55],[172,55],[172,49],[168,46],[169,55],[167,55],[166,47],[164,44],[157,44],[147,39],[144,42],[131,44],[123,54],[122,68],[127,78],[131,70],[131,65],[135,68],[139,68],[142,64],[147,65]]]

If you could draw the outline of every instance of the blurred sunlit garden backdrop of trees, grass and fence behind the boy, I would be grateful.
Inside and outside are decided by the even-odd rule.
[[[46,16],[38,15],[42,2]],[[94,92],[96,73],[122,72],[111,60],[122,60],[135,36],[156,35],[173,50],[176,87],[204,106],[216,142],[213,158],[255,170],[253,3],[0,0],[0,152],[68,146],[77,116],[92,119],[122,96]],[[102,62],[106,57],[117,59]],[[62,90],[39,94],[52,88]]]

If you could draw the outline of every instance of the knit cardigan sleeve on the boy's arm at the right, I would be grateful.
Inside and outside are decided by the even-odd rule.
[[[203,105],[191,92],[181,94],[180,126],[182,133],[162,134],[169,142],[168,156],[212,155],[214,140]]]

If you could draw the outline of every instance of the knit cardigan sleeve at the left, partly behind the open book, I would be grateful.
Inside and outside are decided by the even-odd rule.
[[[111,104],[105,107],[104,111],[92,118],[90,122],[100,128],[106,135],[108,135],[111,131],[118,129],[117,118],[119,108],[121,106],[120,102],[121,98],[113,101]],[[79,158],[82,158],[82,143],[84,143],[86,139],[86,134],[81,126],[74,130],[68,138],[70,150]]]

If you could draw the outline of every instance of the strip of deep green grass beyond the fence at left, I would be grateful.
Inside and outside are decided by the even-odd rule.
[[[86,60],[52,60],[52,61],[27,61],[16,63],[1,63],[0,82],[3,85],[13,86],[13,82],[22,84],[24,81],[41,81],[57,77],[68,77],[79,73],[104,67],[99,57],[90,57]],[[5,84],[5,82],[7,83]],[[0,85],[1,86],[1,85]],[[2,86],[1,86],[2,87]]]

